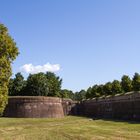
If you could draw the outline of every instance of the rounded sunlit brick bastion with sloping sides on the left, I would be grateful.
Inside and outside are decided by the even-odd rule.
[[[17,118],[62,118],[62,99],[42,96],[9,97],[4,117]]]

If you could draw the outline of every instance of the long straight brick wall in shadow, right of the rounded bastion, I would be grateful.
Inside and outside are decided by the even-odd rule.
[[[80,106],[82,115],[88,117],[140,120],[140,92],[85,100]]]

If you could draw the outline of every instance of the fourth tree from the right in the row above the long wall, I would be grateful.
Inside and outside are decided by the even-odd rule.
[[[112,83],[107,82],[103,87],[104,95],[112,95]]]

